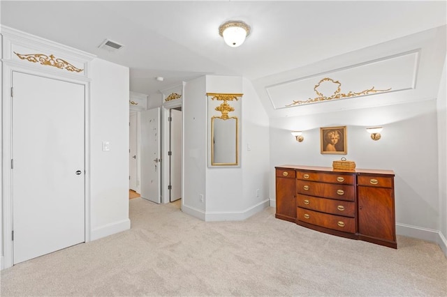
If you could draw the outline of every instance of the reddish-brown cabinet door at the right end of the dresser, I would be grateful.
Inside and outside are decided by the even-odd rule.
[[[396,241],[393,189],[359,185],[358,232],[373,238]]]

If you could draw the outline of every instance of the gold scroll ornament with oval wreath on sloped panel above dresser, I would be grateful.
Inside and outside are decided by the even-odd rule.
[[[323,93],[318,91],[318,86],[320,86],[322,82],[332,82],[332,84],[337,85],[337,90],[332,94],[332,96],[326,97],[323,95]],[[366,89],[366,90],[363,90],[360,92],[349,91],[348,93],[340,93],[342,91],[342,83],[340,83],[338,80],[334,80],[332,78],[325,77],[325,78],[321,79],[318,82],[318,84],[316,84],[314,86],[314,91],[318,95],[318,97],[309,98],[307,100],[293,100],[293,102],[291,104],[286,105],[286,107],[291,107],[294,105],[304,105],[304,104],[309,104],[309,103],[314,103],[314,102],[321,102],[321,101],[325,101],[325,100],[365,96],[365,95],[369,95],[372,93],[380,93],[380,92],[386,92],[386,91],[390,91],[390,90],[391,90],[391,88],[386,89],[386,90],[376,90],[373,86],[371,89]]]

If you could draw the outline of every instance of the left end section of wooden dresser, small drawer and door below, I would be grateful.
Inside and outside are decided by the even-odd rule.
[[[277,169],[276,173],[277,213],[275,217],[295,222],[295,170]]]

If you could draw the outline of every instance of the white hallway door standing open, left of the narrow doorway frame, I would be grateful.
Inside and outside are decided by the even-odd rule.
[[[160,107],[140,112],[141,197],[161,202]]]

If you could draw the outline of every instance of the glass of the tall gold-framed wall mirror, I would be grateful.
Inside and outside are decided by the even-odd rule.
[[[237,118],[211,119],[211,165],[237,165]]]

